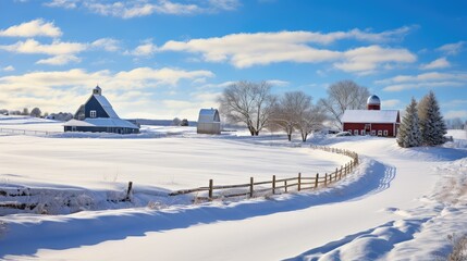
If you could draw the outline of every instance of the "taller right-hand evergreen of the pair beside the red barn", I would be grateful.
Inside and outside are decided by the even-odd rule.
[[[438,146],[445,142],[446,125],[440,112],[433,91],[426,95],[418,105],[421,142],[426,146]]]

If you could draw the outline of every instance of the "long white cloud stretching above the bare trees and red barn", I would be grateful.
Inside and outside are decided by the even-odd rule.
[[[315,32],[233,34],[188,41],[172,40],[165,42],[159,51],[200,53],[205,61],[229,62],[239,69],[279,62],[334,62],[336,69],[346,72],[367,72],[380,64],[411,63],[416,55],[406,49],[382,48],[376,45],[347,51],[318,49],[310,45],[327,45],[341,39],[388,41],[407,32],[408,27],[380,34],[359,29],[329,34]]]

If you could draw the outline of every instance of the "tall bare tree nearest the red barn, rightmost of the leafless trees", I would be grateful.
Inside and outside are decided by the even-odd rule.
[[[361,110],[370,96],[368,88],[357,85],[353,80],[341,80],[328,88],[328,98],[320,100],[322,105],[334,120],[335,126],[342,127],[341,117],[345,110]]]

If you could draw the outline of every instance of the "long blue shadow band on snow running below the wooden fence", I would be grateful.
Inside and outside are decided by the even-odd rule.
[[[238,221],[278,212],[297,211],[315,206],[358,200],[390,187],[395,169],[373,160],[362,160],[356,173],[320,191],[281,195],[271,199],[239,202],[212,202],[171,207],[163,210],[125,209],[79,212],[66,216],[16,215],[8,221],[9,233],[0,238],[0,259],[5,256],[34,256],[38,249],[70,249],[163,233],[199,224]],[[17,219],[15,219],[17,217]],[[19,222],[15,222],[17,220]],[[34,227],[33,227],[34,226]],[[30,231],[35,233],[32,234]],[[66,239],[65,239],[66,238]]]

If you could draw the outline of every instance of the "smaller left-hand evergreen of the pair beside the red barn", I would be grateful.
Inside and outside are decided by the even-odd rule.
[[[421,145],[421,133],[418,122],[417,101],[411,98],[410,104],[405,109],[397,133],[397,144],[403,148],[418,147]]]

